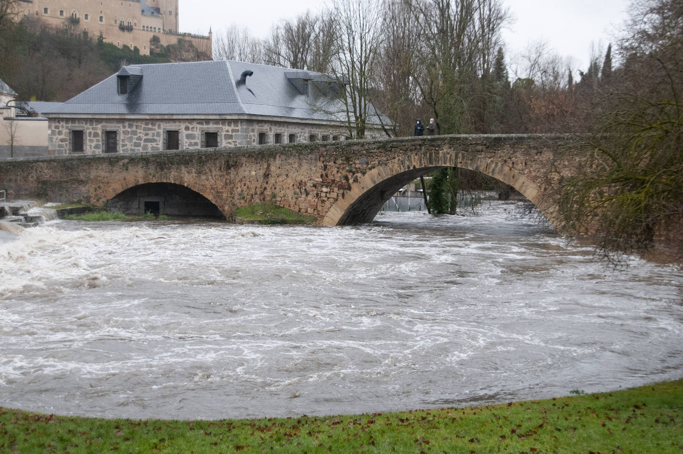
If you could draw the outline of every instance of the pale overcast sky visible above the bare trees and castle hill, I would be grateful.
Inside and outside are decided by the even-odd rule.
[[[563,57],[573,57],[585,70],[591,46],[607,48],[626,18],[630,0],[503,0],[514,22],[503,33],[507,56],[520,53],[529,42],[544,40]],[[266,38],[280,18],[306,10],[318,12],[324,0],[180,0],[180,31],[214,36],[232,23],[244,25],[257,38]]]

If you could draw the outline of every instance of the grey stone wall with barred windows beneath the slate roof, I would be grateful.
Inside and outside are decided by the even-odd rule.
[[[79,119],[51,118],[49,120],[50,155],[70,155],[70,131],[83,131],[85,155],[104,152],[105,131],[117,133],[116,152],[159,152],[165,146],[167,131],[178,131],[178,149],[208,148],[205,133],[217,133],[219,147],[277,143],[326,142],[344,140],[348,132],[337,124],[321,125],[304,122],[285,122],[273,119],[229,120],[130,118]],[[370,129],[368,138],[385,135],[380,129]],[[81,154],[81,153],[79,153]]]

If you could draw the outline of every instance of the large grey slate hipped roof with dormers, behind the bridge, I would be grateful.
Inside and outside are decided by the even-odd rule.
[[[253,71],[246,83],[236,83],[246,70]],[[289,73],[289,74],[288,74]],[[303,71],[313,81],[329,76]],[[141,75],[128,94],[118,94],[117,75]],[[242,115],[275,116],[303,120],[340,120],[318,103],[331,103],[324,96],[302,94],[295,86],[293,70],[233,61],[187,62],[124,66],[117,74],[74,96],[51,114],[143,115]],[[131,78],[131,81],[133,79]],[[322,83],[322,82],[320,82]],[[325,82],[326,83],[326,82]],[[325,93],[326,94],[326,93]]]

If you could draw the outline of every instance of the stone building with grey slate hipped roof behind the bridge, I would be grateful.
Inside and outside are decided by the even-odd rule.
[[[344,87],[317,72],[232,61],[131,65],[45,112],[51,154],[156,152],[348,135]],[[366,137],[383,137],[376,114]]]

